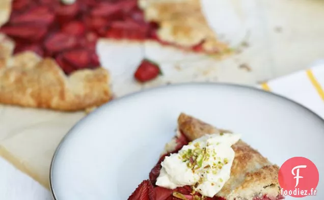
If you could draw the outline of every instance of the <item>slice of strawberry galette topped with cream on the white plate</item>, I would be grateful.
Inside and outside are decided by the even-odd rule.
[[[129,200],[279,200],[279,167],[239,134],[181,114],[175,138]]]

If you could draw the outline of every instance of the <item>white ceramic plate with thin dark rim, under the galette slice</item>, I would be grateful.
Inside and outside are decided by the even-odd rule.
[[[285,98],[228,84],[170,85],[114,100],[80,121],[63,139],[51,167],[57,200],[125,200],[148,178],[180,112],[231,129],[272,162],[312,160],[324,199],[324,122]],[[323,191],[322,191],[323,190]],[[287,197],[292,199],[292,197]]]

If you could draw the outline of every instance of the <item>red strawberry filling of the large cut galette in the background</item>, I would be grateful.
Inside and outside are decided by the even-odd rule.
[[[32,50],[51,56],[68,74],[98,67],[95,45],[99,37],[158,40],[157,28],[156,23],[144,20],[137,0],[77,0],[72,5],[59,0],[14,0],[10,20],[0,32],[15,40],[14,53]],[[199,45],[192,48],[200,49]],[[136,76],[146,81],[157,74],[153,69]]]

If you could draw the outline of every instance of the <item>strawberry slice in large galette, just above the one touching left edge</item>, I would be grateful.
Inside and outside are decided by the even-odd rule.
[[[15,15],[11,18],[12,24],[18,23],[35,23],[37,25],[49,25],[55,19],[54,13],[52,13],[47,7],[39,6],[32,8],[20,15]]]

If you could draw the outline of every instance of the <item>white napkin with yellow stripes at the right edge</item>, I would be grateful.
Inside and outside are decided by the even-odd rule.
[[[258,87],[300,103],[324,118],[324,60]]]

